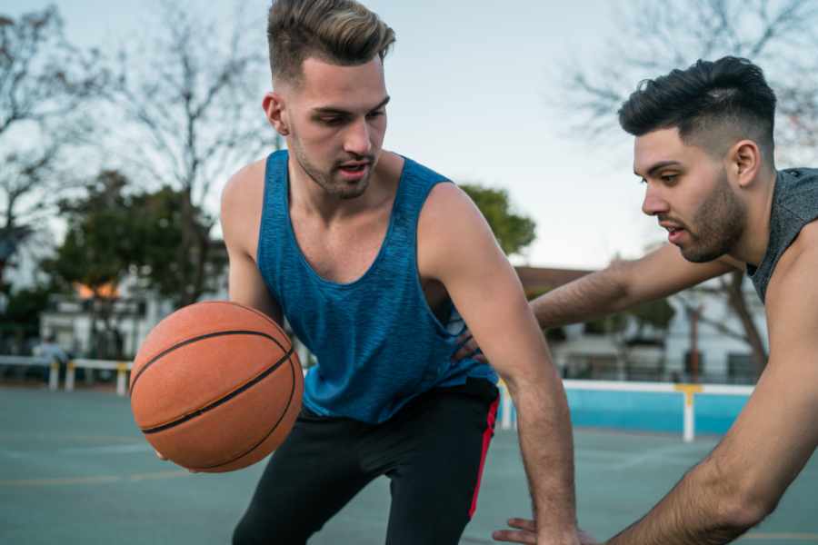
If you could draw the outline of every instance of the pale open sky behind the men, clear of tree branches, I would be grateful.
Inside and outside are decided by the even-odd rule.
[[[71,42],[103,49],[140,32],[146,10],[155,9],[153,0],[0,0],[0,13],[15,16],[49,4],[60,9]],[[656,220],[640,210],[633,138],[621,133],[613,142],[589,142],[571,130],[570,113],[554,105],[565,60],[591,62],[615,35],[615,3],[364,4],[397,35],[385,63],[392,101],[384,148],[455,182],[505,188],[516,211],[537,224],[536,241],[514,263],[600,268],[614,255],[637,257],[662,240]],[[234,9],[229,0],[191,5],[225,18]],[[254,39],[266,51],[268,2],[244,5],[258,30]],[[216,191],[224,182],[214,182]]]

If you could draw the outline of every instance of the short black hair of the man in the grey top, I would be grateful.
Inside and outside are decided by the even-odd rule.
[[[752,140],[771,168],[774,118],[775,94],[762,69],[733,56],[644,80],[619,110],[619,124],[629,134],[677,127],[684,144],[716,157]]]

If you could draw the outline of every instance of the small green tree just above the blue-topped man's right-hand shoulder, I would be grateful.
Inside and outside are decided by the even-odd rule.
[[[536,223],[527,216],[514,213],[507,191],[472,183],[461,184],[460,188],[483,213],[497,242],[507,255],[521,253],[534,242]]]

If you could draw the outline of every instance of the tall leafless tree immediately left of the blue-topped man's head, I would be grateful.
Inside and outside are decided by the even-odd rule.
[[[148,39],[125,46],[109,90],[125,118],[111,130],[109,149],[144,184],[171,184],[184,193],[183,242],[174,267],[175,304],[195,302],[208,289],[213,215],[203,217],[214,183],[242,164],[277,148],[265,124],[261,98],[266,66],[264,23],[243,23],[237,13],[229,34],[200,10],[165,2]],[[254,39],[255,38],[255,39]]]

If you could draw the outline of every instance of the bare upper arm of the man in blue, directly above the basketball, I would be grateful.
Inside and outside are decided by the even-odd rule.
[[[264,312],[281,325],[281,308],[255,262],[264,191],[256,168],[251,165],[234,174],[222,193],[222,233],[230,261],[227,286],[231,301]]]

